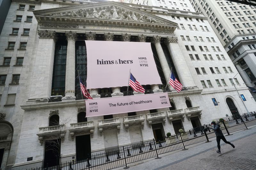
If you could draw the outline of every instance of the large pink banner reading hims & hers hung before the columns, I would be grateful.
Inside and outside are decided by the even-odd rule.
[[[85,41],[86,88],[127,86],[129,70],[141,85],[162,84],[149,42]]]

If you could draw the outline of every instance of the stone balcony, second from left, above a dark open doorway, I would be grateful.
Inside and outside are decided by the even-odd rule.
[[[76,135],[86,134],[90,132],[91,137],[93,137],[94,126],[93,122],[79,122],[79,123],[70,123],[71,128],[69,129],[70,136],[74,140]]]

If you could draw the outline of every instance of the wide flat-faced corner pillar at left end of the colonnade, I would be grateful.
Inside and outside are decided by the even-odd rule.
[[[36,50],[33,79],[28,102],[48,102],[52,91],[52,73],[56,42],[55,31],[38,30],[39,41]],[[43,64],[42,64],[43,63]],[[20,80],[20,83],[26,80]]]

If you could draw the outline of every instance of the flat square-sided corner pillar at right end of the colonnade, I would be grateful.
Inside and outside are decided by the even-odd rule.
[[[165,44],[171,54],[174,67],[183,86],[196,86],[193,76],[188,69],[188,64],[182,54],[177,37],[166,37]]]

